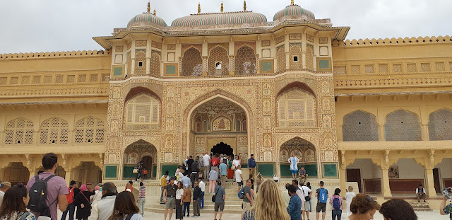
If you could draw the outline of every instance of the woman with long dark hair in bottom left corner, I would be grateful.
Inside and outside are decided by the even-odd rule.
[[[0,207],[1,220],[35,220],[35,215],[27,211],[28,191],[25,185],[18,184],[5,192]]]

